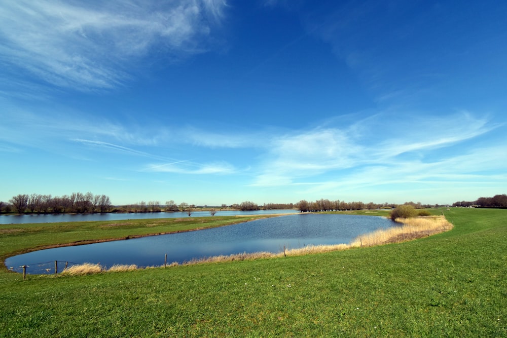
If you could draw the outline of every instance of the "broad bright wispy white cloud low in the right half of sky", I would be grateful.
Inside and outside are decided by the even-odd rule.
[[[316,128],[274,138],[253,185],[306,182],[313,189],[333,189],[449,178],[472,174],[480,168],[496,168],[494,159],[498,159],[498,152],[505,152],[503,145],[481,150],[453,148],[498,127],[468,112],[425,122],[387,120],[388,132],[372,139],[374,129],[386,126],[378,123],[384,118],[378,115],[341,128]],[[439,154],[439,149],[447,148],[453,151]],[[402,154],[411,156],[400,157]],[[327,179],[314,183],[317,177],[319,181]]]

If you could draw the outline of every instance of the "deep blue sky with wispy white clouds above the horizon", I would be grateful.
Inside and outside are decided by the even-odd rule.
[[[507,3],[0,5],[0,200],[507,193]]]

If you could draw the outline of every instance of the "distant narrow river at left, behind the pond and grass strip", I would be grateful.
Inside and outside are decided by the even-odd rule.
[[[234,215],[266,215],[278,213],[298,213],[294,209],[217,211],[215,216]],[[209,211],[194,211],[191,217],[211,216]],[[0,224],[54,223],[54,222],[82,222],[89,220],[125,220],[150,218],[180,218],[188,217],[186,212],[148,212],[148,213],[94,213],[94,214],[47,214],[47,215],[0,215]]]

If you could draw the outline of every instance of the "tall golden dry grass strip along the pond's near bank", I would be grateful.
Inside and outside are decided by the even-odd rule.
[[[368,247],[375,245],[384,245],[390,243],[400,243],[414,240],[417,238],[427,237],[434,234],[443,233],[453,228],[453,225],[445,219],[444,216],[424,216],[415,218],[398,218],[397,222],[403,223],[401,227],[393,227],[388,229],[380,229],[373,233],[361,235],[355,238],[349,244],[336,245],[308,245],[302,248],[285,249],[279,253],[272,252],[252,252],[238,253],[232,255],[220,255],[213,257],[196,258],[184,262],[182,265],[196,265],[220,263],[233,260],[253,260],[261,258],[276,258],[283,256],[301,256],[314,253],[323,253],[330,251],[347,250],[356,247]],[[178,262],[172,262],[167,267],[179,266]],[[163,267],[163,266],[161,266]],[[115,265],[108,269],[109,272],[132,271],[136,270],[136,265]],[[99,273],[104,271],[98,264],[85,263],[83,265],[72,266],[64,270],[62,275],[86,275]]]

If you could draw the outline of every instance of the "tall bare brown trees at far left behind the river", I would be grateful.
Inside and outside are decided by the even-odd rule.
[[[107,212],[112,207],[111,200],[106,195],[93,195],[88,192],[72,193],[63,196],[41,194],[19,194],[13,196],[9,203],[0,201],[0,213],[91,213]]]

